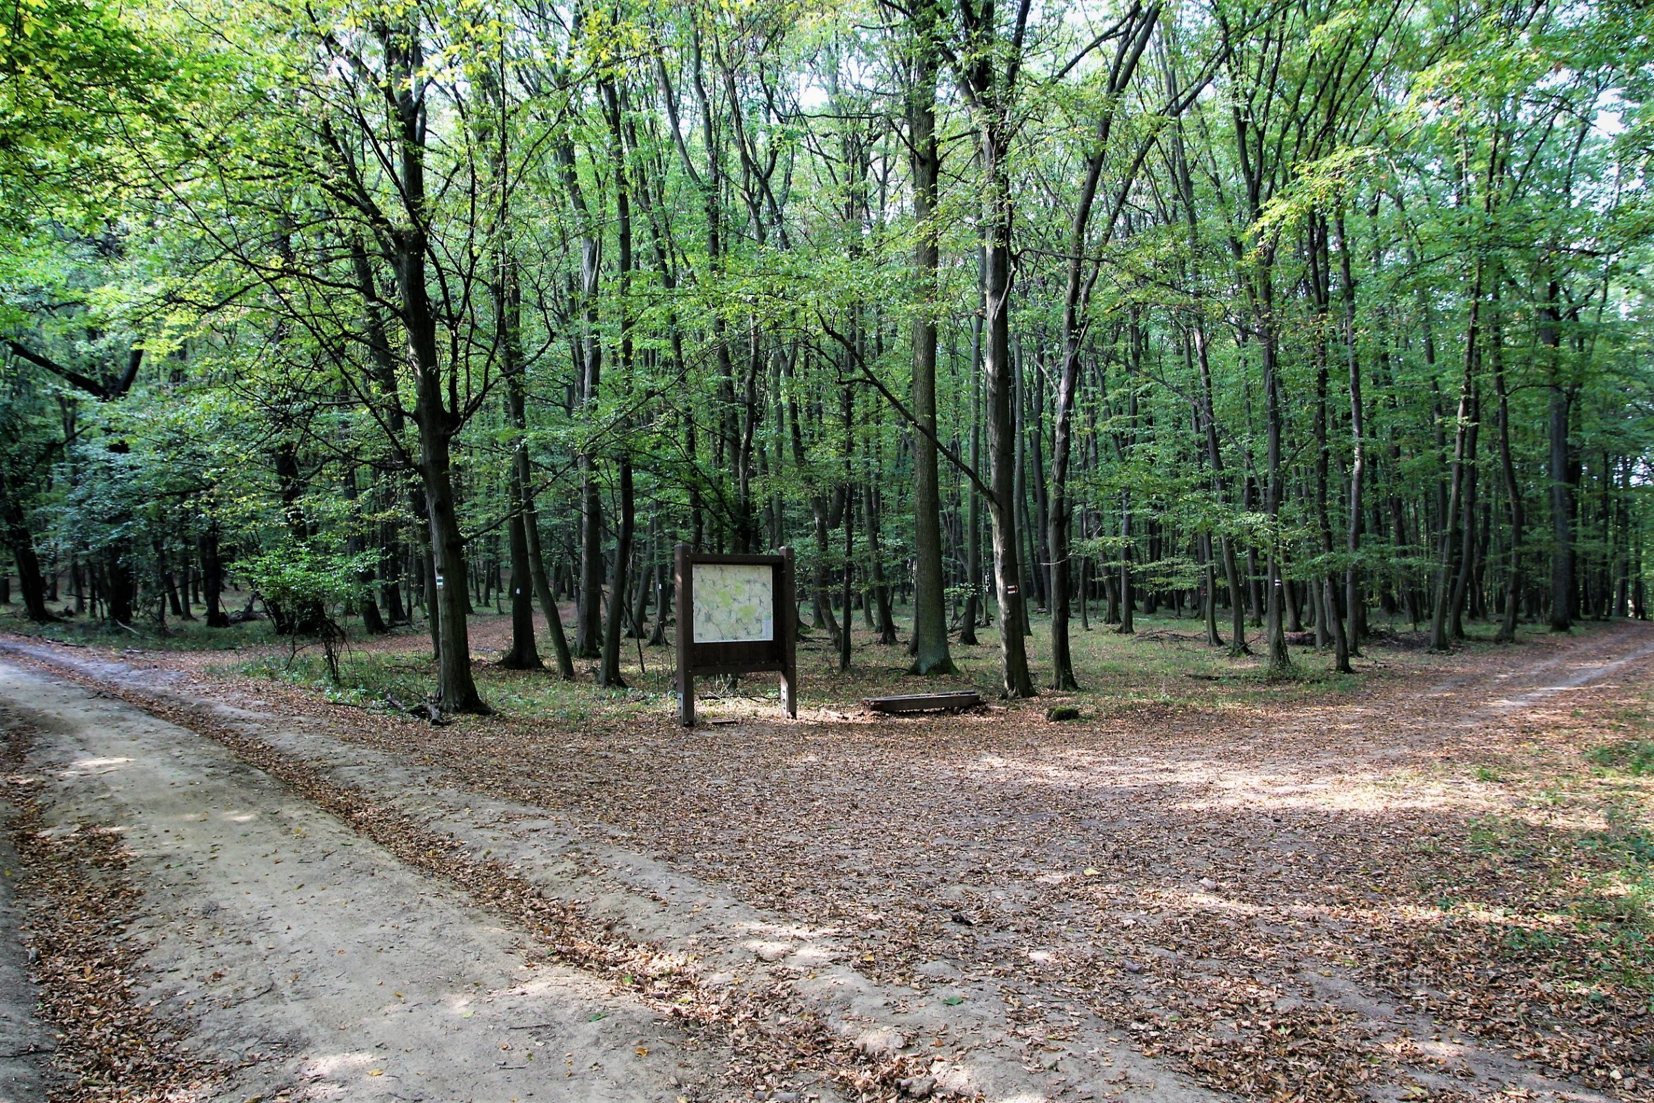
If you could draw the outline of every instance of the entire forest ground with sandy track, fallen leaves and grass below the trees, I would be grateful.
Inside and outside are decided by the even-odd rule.
[[[377,706],[418,635],[342,688],[258,625],[0,638],[0,1024],[55,1035],[13,1060],[65,1100],[1654,1100],[1654,627],[1272,681],[1145,618],[1077,633],[1083,693],[915,719],[860,709],[920,683],[858,638],[797,721],[754,678],[690,733],[665,648],[609,695],[503,635],[501,713],[448,726]]]

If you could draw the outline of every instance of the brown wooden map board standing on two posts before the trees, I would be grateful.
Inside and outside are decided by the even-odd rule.
[[[781,708],[799,714],[799,628],[794,599],[792,549],[779,556],[705,556],[678,544],[673,556],[678,590],[678,719],[695,724],[696,675],[781,673]],[[703,571],[703,587],[713,590],[696,607],[695,574]],[[767,569],[767,575],[766,575]],[[767,600],[764,589],[767,584]],[[759,602],[731,605],[731,592],[756,592]],[[713,609],[710,604],[721,600]],[[728,607],[724,607],[728,605]],[[696,612],[701,635],[696,638]]]

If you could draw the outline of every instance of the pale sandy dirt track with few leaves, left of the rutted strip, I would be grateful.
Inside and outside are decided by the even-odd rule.
[[[212,739],[10,665],[0,700],[36,729],[51,830],[124,833],[149,999],[245,1062],[213,1098],[632,1103],[716,1080],[716,1047],[531,966],[498,916]]]

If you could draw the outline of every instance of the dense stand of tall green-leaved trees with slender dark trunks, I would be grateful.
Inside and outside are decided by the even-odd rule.
[[[427,630],[448,713],[490,607],[504,666],[624,686],[680,542],[794,547],[840,668],[991,633],[1011,698],[1156,612],[1274,675],[1642,618],[1651,33],[7,0],[5,597]]]

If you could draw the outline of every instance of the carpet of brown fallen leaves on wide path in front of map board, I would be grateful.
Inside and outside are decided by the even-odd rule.
[[[1485,1098],[1527,1073],[1654,1100],[1649,918],[1616,910],[1624,858],[1601,845],[1604,817],[1649,824],[1649,785],[1581,757],[1646,711],[1647,645],[1619,625],[1431,666],[1374,647],[1394,668],[1353,695],[1080,724],[1045,723],[1045,701],[693,734],[665,709],[433,729],[258,693],[607,825],[835,931],[878,979],[992,984],[1030,1047],[1093,1020],[1255,1100]],[[1573,678],[1593,663],[1608,673]],[[832,1042],[787,1039],[792,1058],[812,1045]]]

